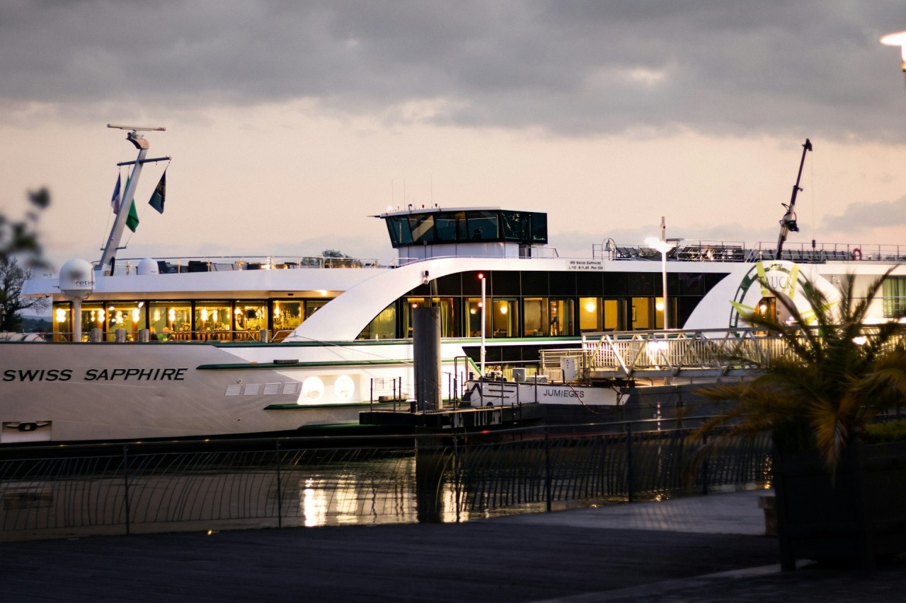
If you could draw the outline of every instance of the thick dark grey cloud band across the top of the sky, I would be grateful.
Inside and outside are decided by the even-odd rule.
[[[7,2],[0,99],[325,110],[572,136],[897,139],[893,0]],[[857,134],[856,134],[857,133]]]

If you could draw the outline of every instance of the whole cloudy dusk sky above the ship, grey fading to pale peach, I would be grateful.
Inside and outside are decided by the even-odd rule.
[[[108,123],[164,126],[166,212],[120,257],[393,255],[388,206],[547,211],[612,237],[906,244],[901,0],[0,4],[0,210],[49,187],[51,259],[96,260]]]

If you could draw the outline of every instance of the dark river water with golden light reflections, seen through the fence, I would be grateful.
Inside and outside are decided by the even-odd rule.
[[[640,485],[635,500],[676,495],[675,480],[665,471],[670,465],[661,461],[666,449],[660,443],[637,445],[633,468]],[[420,450],[418,464],[412,450],[402,448],[284,450],[279,464],[273,451],[167,456],[168,463],[159,462],[164,455],[148,455],[155,462],[137,457],[128,475],[114,457],[100,470],[93,460],[53,472],[34,464],[32,473],[32,464],[22,464],[0,473],[6,476],[0,479],[0,540],[25,531],[121,533],[127,523],[130,531],[199,526],[207,531],[467,522],[544,512],[548,497],[552,510],[626,500],[626,469],[617,446],[554,448],[549,465],[542,450],[532,443],[457,454]],[[651,463],[643,463],[646,450],[657,453]],[[548,466],[552,476],[545,483]],[[764,463],[758,466],[764,471],[760,476],[769,477]],[[739,487],[715,480],[708,484],[710,492]]]

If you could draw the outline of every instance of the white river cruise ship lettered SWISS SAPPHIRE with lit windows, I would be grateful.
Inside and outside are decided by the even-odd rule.
[[[151,161],[140,132],[127,137],[139,148],[128,162],[133,187]],[[0,341],[0,445],[357,423],[362,410],[414,396],[413,317],[426,307],[439,321],[443,399],[482,372],[553,387],[570,379],[540,367],[545,350],[602,333],[743,327],[740,311],[782,311],[761,280],[794,300],[813,282],[833,300],[848,274],[865,287],[906,257],[896,245],[664,236],[648,245],[602,237],[587,257],[561,257],[543,212],[407,206],[375,216],[397,253],[389,262],[126,259],[115,257],[125,213],[100,261],[25,283],[24,295],[53,300],[53,332]],[[906,269],[896,267],[872,320],[904,302]],[[615,404],[614,390],[601,389],[601,403]],[[563,390],[552,397],[583,402]]]

